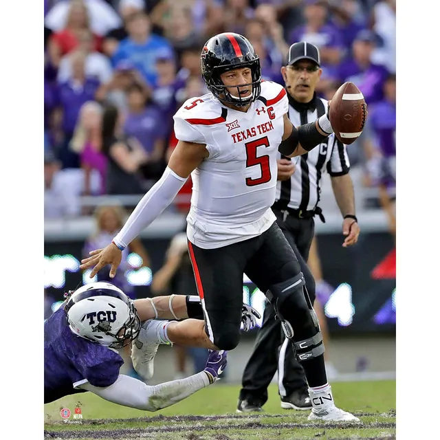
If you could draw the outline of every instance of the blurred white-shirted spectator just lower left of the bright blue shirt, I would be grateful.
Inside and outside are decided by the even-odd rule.
[[[83,29],[78,32],[78,50],[86,54],[85,74],[96,76],[101,84],[108,83],[112,76],[112,67],[109,58],[94,50],[94,37],[89,30]],[[72,78],[71,54],[63,56],[58,68],[58,82],[64,83]]]

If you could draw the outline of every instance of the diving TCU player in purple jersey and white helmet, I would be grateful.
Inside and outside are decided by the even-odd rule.
[[[246,312],[245,312],[246,310]],[[131,343],[141,322],[202,314],[197,296],[131,300],[111,283],[91,283],[69,293],[45,321],[45,403],[91,391],[115,404],[155,411],[173,405],[214,383],[227,364],[225,351],[210,351],[206,368],[183,380],[148,386],[120,375],[117,349]],[[258,312],[243,306],[243,326],[252,328]]]

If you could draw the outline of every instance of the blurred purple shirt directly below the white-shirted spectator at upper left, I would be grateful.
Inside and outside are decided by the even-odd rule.
[[[83,85],[75,84],[74,80],[58,85],[58,102],[63,107],[62,129],[65,133],[74,132],[81,106],[94,100],[99,86],[99,80],[96,78],[86,78]]]

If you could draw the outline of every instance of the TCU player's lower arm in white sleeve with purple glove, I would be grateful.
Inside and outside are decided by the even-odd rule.
[[[78,386],[78,388],[91,391],[91,393],[114,404],[129,406],[138,410],[157,411],[177,404],[177,402],[186,399],[186,397],[201,390],[201,388],[213,384],[219,378],[227,363],[225,351],[211,351],[205,369],[185,379],[148,386],[133,377],[119,375],[113,384],[104,388],[91,385],[89,382]]]

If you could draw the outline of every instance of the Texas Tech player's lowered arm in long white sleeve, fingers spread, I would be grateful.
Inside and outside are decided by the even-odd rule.
[[[93,278],[102,267],[111,265],[110,278],[113,278],[121,262],[122,250],[173,201],[190,173],[205,157],[208,157],[205,145],[179,141],[164,174],[137,203],[113,242],[107,248],[91,251],[89,258],[81,260],[83,264],[80,269],[94,267],[90,274],[90,278]]]

